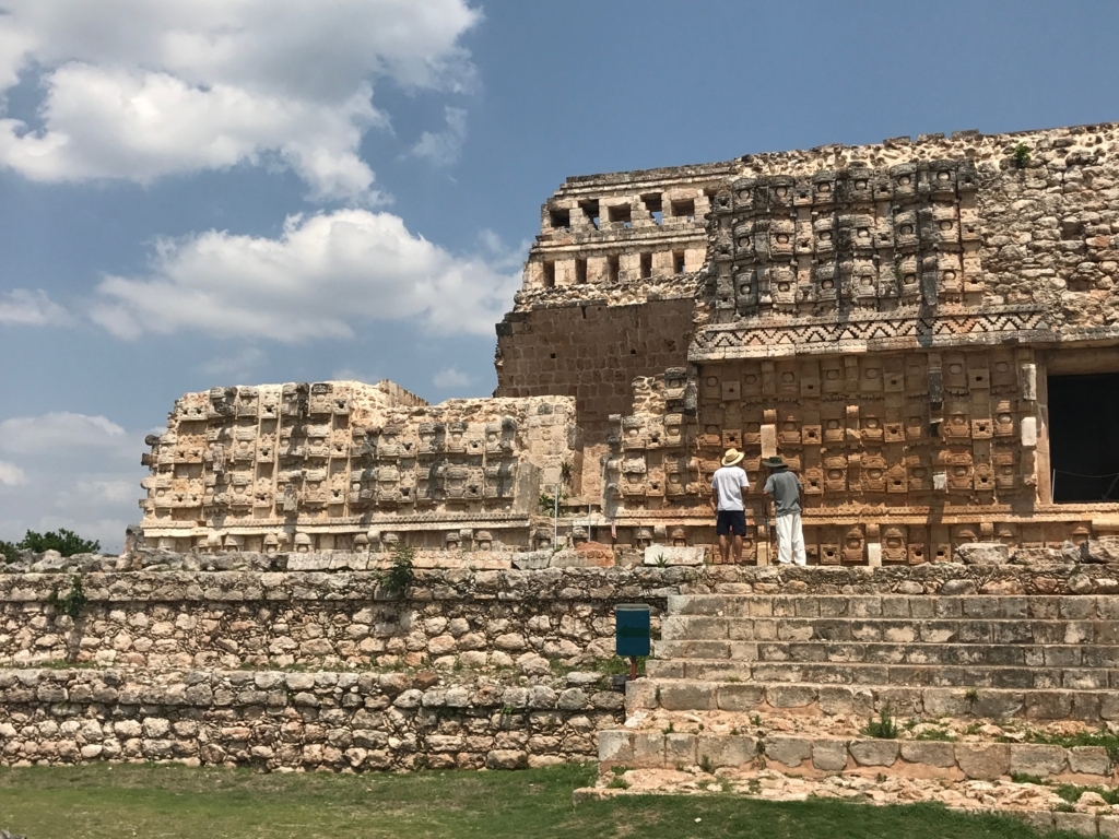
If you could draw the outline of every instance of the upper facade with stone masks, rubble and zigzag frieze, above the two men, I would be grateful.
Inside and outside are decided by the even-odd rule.
[[[1117,139],[1109,124],[743,158],[713,200],[690,358],[1119,337]]]

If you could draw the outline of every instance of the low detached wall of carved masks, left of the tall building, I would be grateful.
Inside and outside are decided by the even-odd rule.
[[[142,527],[175,549],[349,548],[412,529],[526,543],[539,482],[561,480],[577,433],[564,397],[427,405],[357,381],[186,394],[147,441]]]

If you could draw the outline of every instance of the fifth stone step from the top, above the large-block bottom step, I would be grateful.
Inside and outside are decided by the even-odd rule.
[[[869,716],[890,707],[899,718],[1119,719],[1113,690],[1065,688],[1015,690],[999,687],[902,687],[819,682],[746,682],[731,675],[709,680],[647,677],[626,686],[626,709],[750,711],[797,708],[825,715]]]

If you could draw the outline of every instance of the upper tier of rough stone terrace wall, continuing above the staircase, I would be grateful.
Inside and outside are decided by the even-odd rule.
[[[613,607],[679,593],[1071,595],[1119,592],[1108,565],[752,566],[419,571],[405,598],[372,572],[82,575],[76,621],[49,605],[72,578],[0,575],[0,663],[103,667],[540,667],[613,656]],[[535,662],[535,663],[534,663]]]

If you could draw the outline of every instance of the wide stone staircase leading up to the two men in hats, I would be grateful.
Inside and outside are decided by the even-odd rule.
[[[660,625],[604,767],[1115,783],[1101,746],[1025,741],[1119,720],[1119,596],[690,594]],[[862,734],[884,710],[899,737]]]

